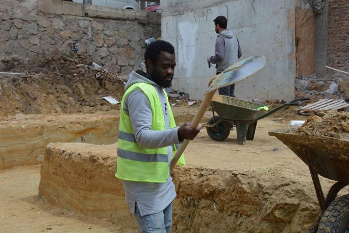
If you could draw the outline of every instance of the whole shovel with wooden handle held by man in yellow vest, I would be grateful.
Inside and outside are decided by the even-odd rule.
[[[242,79],[255,74],[265,65],[265,57],[264,56],[254,56],[248,57],[241,61],[236,62],[234,65],[227,68],[225,71],[220,73],[219,75],[213,76],[209,83],[209,87],[207,88],[204,96],[203,102],[200,104],[199,109],[197,110],[193,121],[190,124],[190,127],[196,129],[198,124],[200,123],[203,115],[209,106],[212,97],[214,96],[216,90],[220,87],[225,87],[232,85]],[[187,147],[189,140],[185,139],[180,148],[177,150],[176,155],[174,155],[170,170],[176,166],[178,159],[183,154],[185,148]]]

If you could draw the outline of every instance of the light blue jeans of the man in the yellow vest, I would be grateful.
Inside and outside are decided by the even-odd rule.
[[[140,233],[169,233],[172,226],[172,202],[163,211],[143,217],[136,203],[135,216]]]

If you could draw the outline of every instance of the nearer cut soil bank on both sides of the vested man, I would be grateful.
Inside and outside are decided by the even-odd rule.
[[[114,177],[117,145],[46,147],[39,195],[60,206],[137,229]],[[310,177],[290,169],[174,170],[173,232],[306,232],[319,213]]]

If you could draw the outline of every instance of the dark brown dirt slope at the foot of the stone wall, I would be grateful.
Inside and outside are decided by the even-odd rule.
[[[90,64],[88,57],[56,56],[9,69],[26,76],[0,76],[0,116],[119,109],[102,97],[121,100],[126,77],[95,69]]]

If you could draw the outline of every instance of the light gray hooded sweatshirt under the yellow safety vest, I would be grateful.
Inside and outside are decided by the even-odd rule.
[[[152,107],[139,88],[133,90],[124,102],[123,110],[130,116],[137,143],[143,148],[167,147],[168,165],[171,162],[172,145],[180,144],[178,128],[169,128],[168,108],[163,88],[146,78],[144,72],[132,72],[125,90],[132,84],[145,82],[152,84],[159,96],[164,114],[166,130],[152,131]],[[135,203],[141,216],[163,211],[176,198],[176,190],[169,175],[164,183],[137,182],[122,180],[126,202],[132,214]]]

